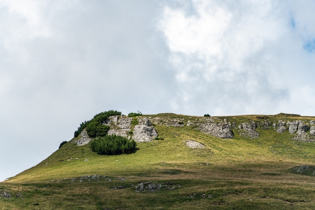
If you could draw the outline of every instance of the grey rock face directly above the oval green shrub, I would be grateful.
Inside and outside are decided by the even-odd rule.
[[[110,130],[108,131],[109,135],[118,135],[130,138],[128,134],[131,129],[131,121],[132,118],[111,116],[104,124],[110,127]]]

